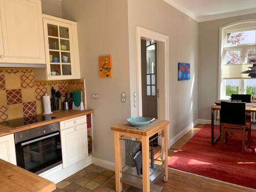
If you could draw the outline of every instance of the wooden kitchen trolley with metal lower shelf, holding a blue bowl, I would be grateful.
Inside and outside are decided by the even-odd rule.
[[[130,184],[142,188],[143,192],[150,192],[150,184],[154,183],[159,176],[164,176],[164,181],[168,180],[168,131],[167,120],[156,120],[143,127],[132,127],[127,123],[120,123],[112,126],[115,139],[115,179],[116,191],[122,191],[122,183]],[[158,133],[164,138],[165,159],[161,165],[150,167],[150,137]],[[123,136],[136,138],[141,141],[142,146],[142,176],[136,175],[135,167],[122,166],[121,140]]]

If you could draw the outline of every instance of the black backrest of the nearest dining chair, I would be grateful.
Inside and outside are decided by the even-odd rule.
[[[221,101],[221,123],[245,125],[245,102]]]

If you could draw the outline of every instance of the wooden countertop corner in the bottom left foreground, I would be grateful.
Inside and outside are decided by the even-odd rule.
[[[56,188],[55,183],[35,175],[28,170],[0,159],[0,191],[48,192]]]

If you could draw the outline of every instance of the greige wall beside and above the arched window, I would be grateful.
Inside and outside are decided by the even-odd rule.
[[[256,13],[199,23],[199,119],[210,119],[210,106],[218,99],[220,27],[255,18]]]

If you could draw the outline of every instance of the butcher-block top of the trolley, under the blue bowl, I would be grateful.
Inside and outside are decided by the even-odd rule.
[[[120,123],[114,126],[111,126],[112,131],[118,131],[118,132],[124,132],[124,133],[131,133],[135,135],[142,135],[142,136],[148,136],[152,135],[152,133],[157,132],[156,130],[160,130],[163,126],[167,126],[169,124],[169,121],[167,120],[156,120],[152,123],[146,125],[144,129],[140,129],[140,127],[125,127],[125,123]]]

